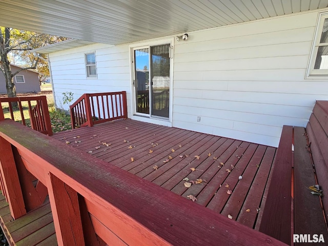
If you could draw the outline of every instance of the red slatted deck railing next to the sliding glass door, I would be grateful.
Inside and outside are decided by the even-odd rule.
[[[127,118],[127,94],[105,92],[83,94],[70,106],[72,128]]]

